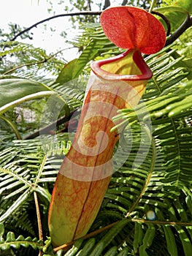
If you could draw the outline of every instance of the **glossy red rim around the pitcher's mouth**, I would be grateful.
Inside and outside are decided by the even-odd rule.
[[[133,75],[120,75],[112,72],[108,72],[102,68],[102,66],[106,64],[110,64],[112,62],[118,61],[123,59],[133,51],[133,61],[139,68],[141,74],[133,74]],[[147,66],[145,60],[142,58],[142,55],[139,50],[129,49],[126,52],[119,54],[118,56],[114,56],[110,59],[104,59],[101,61],[93,61],[91,64],[91,69],[93,73],[99,75],[101,78],[105,80],[130,80],[130,81],[137,81],[137,80],[149,80],[152,78],[153,73],[150,70],[150,67]]]

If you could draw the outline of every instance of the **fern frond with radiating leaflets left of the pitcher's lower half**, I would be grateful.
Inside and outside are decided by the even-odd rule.
[[[48,147],[47,140],[53,140]],[[6,227],[14,227],[15,233],[25,230],[34,235],[33,192],[37,192],[42,210],[47,211],[53,183],[71,143],[64,134],[54,138],[15,140],[14,144],[0,154],[0,219]]]

